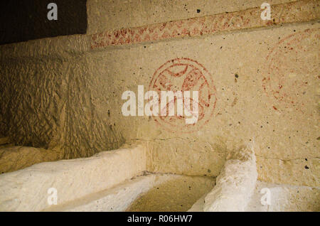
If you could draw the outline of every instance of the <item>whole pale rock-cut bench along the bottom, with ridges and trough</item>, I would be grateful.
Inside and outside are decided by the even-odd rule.
[[[210,192],[214,178],[149,174],[145,171],[146,161],[142,144],[126,145],[90,158],[38,163],[4,173],[0,176],[0,210],[319,211],[320,208],[319,188],[256,182],[253,144],[228,151],[227,161]],[[57,189],[58,205],[48,205],[48,188]],[[270,205],[261,203],[262,188],[270,190]]]

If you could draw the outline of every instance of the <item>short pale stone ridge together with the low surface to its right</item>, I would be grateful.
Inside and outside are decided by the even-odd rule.
[[[256,181],[255,156],[248,149],[235,151],[228,158],[230,160],[223,166],[215,188],[203,195],[188,211],[320,210],[319,187]],[[288,178],[284,180],[288,181]]]

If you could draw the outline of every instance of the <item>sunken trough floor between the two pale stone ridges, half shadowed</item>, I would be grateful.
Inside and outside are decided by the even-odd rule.
[[[181,211],[210,190],[213,182],[214,178],[203,176],[152,173],[44,211]]]

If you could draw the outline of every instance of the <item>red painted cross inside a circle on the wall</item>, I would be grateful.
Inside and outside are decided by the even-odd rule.
[[[189,133],[201,129],[203,124],[206,124],[212,118],[217,101],[215,86],[211,77],[203,65],[189,58],[176,58],[161,65],[154,72],[149,90],[156,92],[198,91],[198,122],[196,124],[186,124],[184,123],[184,117],[181,116],[154,117],[155,122],[169,131]],[[189,102],[193,102],[192,97]],[[183,105],[188,107],[186,103],[183,103]]]

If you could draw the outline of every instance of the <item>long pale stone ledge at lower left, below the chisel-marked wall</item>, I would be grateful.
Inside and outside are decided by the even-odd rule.
[[[39,211],[48,207],[48,189],[58,204],[97,193],[146,170],[142,146],[105,151],[90,158],[38,163],[0,175],[1,211]]]

